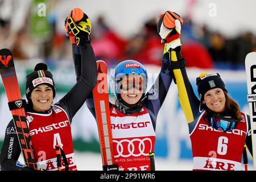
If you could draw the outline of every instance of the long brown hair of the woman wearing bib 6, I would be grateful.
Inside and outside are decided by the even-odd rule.
[[[220,113],[220,115],[232,117],[233,119],[236,119],[236,121],[240,122],[243,119],[243,117],[241,115],[239,105],[237,104],[236,101],[233,100],[233,98],[229,96],[229,94],[225,90],[223,90],[223,92],[226,98],[226,103],[225,110],[222,113]],[[211,117],[212,111],[207,107],[206,104],[203,104],[203,107],[206,110],[204,118],[207,120],[205,122],[209,124],[209,118]]]

